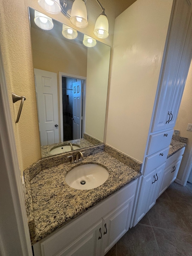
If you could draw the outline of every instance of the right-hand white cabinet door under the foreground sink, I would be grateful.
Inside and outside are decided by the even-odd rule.
[[[134,195],[124,204],[103,218],[101,256],[128,231],[133,209]]]

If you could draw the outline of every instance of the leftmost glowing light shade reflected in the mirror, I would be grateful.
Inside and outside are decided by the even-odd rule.
[[[44,30],[49,30],[53,28],[53,22],[52,19],[45,14],[38,12],[35,10],[35,18],[34,18],[35,24]]]

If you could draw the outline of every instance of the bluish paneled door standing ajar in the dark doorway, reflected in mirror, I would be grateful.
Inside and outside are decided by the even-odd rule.
[[[73,140],[81,139],[82,129],[82,81],[73,83]]]

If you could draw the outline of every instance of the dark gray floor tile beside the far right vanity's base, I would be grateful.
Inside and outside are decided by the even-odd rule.
[[[186,187],[175,182],[167,188],[166,193],[171,201],[192,204],[192,193]]]

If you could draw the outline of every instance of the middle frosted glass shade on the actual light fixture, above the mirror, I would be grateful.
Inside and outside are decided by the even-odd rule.
[[[82,0],[75,0],[73,2],[70,22],[78,28],[85,28],[88,25],[87,9]]]

